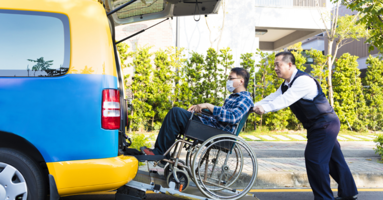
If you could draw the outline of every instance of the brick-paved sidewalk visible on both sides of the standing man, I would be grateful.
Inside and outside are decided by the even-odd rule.
[[[276,142],[259,142],[247,141],[252,149],[257,151],[281,151],[293,152],[294,150],[304,151],[306,141],[276,141]],[[345,151],[373,151],[375,143],[372,141],[349,141],[339,142],[341,149]],[[153,142],[154,145],[154,142]],[[278,151],[279,150],[279,151]],[[186,152],[182,152],[181,159],[185,160]],[[383,187],[383,164],[378,163],[378,157],[354,157],[345,158],[357,184],[357,187]],[[273,187],[309,187],[305,159],[302,157],[283,157],[283,158],[258,158],[258,175],[257,182],[253,188],[273,188]],[[163,169],[150,166],[151,170],[157,170],[163,173]],[[147,166],[140,167],[140,170],[148,171]],[[244,171],[244,173],[252,173]],[[337,187],[334,180],[332,187]]]

